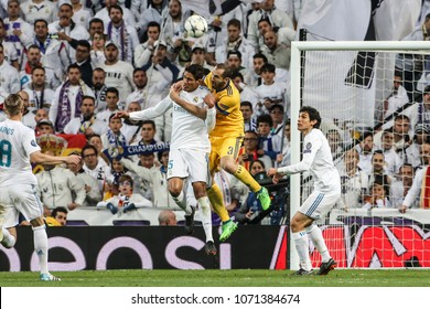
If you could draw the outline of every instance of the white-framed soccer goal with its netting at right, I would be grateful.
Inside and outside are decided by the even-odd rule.
[[[401,82],[406,85],[405,67],[398,67],[396,63],[399,54],[407,58],[417,55],[422,61],[423,74],[419,81],[417,76],[409,81],[413,84],[413,89],[407,92],[410,98],[393,107],[388,98],[393,93],[395,73],[404,74]],[[423,87],[430,85],[430,72],[426,72],[429,55],[430,42],[426,41],[292,42],[291,163],[301,160],[302,139],[297,122],[300,107],[305,105],[320,111],[324,134],[336,131],[338,145],[333,147],[335,150],[332,152],[338,170],[344,168],[345,152],[356,147],[367,131],[378,138],[374,141],[373,151],[381,149],[380,131],[393,129],[397,115],[409,116],[406,109],[417,105]],[[427,74],[429,79],[426,79]],[[416,122],[411,120],[410,125]],[[430,128],[430,122],[428,125]],[[413,128],[409,134],[413,138]],[[405,158],[401,159],[406,162]],[[399,168],[396,166],[393,171],[384,173],[389,173],[389,178],[397,181]],[[364,209],[364,198],[372,191],[374,175],[367,181],[369,191],[361,194],[359,203],[345,205],[345,202],[340,202],[318,222],[340,268],[430,267],[430,210],[418,205],[401,214],[397,207]],[[290,183],[292,217],[311,192],[312,180],[309,175],[294,174]],[[348,194],[344,192],[344,184],[343,201]],[[394,196],[389,196],[388,192],[387,198],[391,200]],[[318,267],[320,256],[313,247],[311,256],[313,266]],[[293,244],[289,248],[289,260],[291,269],[299,268]]]

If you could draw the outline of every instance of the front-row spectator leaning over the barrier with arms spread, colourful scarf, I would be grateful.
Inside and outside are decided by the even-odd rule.
[[[127,213],[140,207],[152,207],[152,203],[139,193],[133,193],[133,180],[128,174],[119,178],[118,195],[97,203],[97,209],[108,209],[112,214]]]

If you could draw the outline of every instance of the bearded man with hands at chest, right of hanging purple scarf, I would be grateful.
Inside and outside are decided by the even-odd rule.
[[[95,99],[92,96],[84,96],[80,105],[80,117],[74,117],[64,127],[64,132],[67,135],[84,134],[89,137],[94,134],[103,135],[106,132],[106,124],[96,119],[94,111],[96,109]]]

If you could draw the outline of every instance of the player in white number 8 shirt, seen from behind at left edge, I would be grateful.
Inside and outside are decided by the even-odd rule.
[[[41,152],[34,130],[21,121],[24,104],[19,95],[4,100],[8,119],[0,122],[0,242],[11,248],[17,242],[19,213],[30,221],[34,252],[39,258],[40,279],[57,281],[47,270],[47,235],[43,221],[43,205],[36,195],[36,178],[30,161],[36,164],[60,164],[80,161],[78,156],[54,157]]]

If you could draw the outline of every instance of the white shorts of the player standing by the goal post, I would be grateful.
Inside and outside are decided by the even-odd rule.
[[[313,191],[299,209],[302,214],[319,220],[324,216],[341,198],[341,192],[322,193]]]

